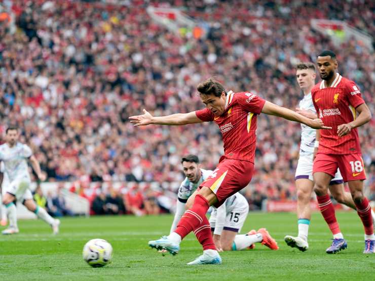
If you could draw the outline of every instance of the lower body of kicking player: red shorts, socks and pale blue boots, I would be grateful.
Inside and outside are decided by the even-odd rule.
[[[224,159],[215,171],[202,183],[202,188],[194,199],[191,209],[180,219],[175,232],[161,240],[149,241],[149,246],[166,249],[172,254],[179,250],[180,241],[194,230],[204,248],[204,254],[189,264],[221,263],[211,236],[211,228],[206,218],[209,206],[220,206],[228,197],[244,188],[251,180],[253,164],[246,161]],[[208,261],[208,262],[207,262]]]

